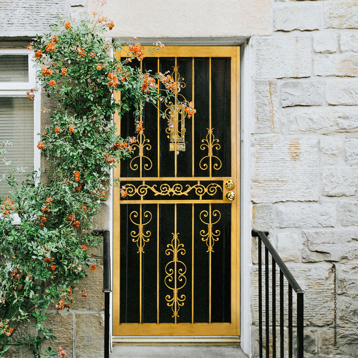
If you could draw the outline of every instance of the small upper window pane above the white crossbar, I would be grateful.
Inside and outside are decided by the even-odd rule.
[[[0,82],[28,82],[27,55],[0,55]]]

